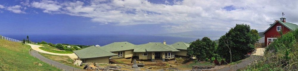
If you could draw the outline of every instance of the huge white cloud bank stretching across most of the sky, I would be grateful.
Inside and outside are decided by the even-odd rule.
[[[298,22],[298,1],[184,0],[173,5],[146,0],[33,1],[29,6],[50,14],[90,17],[101,25],[159,24],[168,32],[229,30],[249,24],[264,31],[285,12],[287,22]],[[24,2],[24,4],[26,4]],[[280,3],[280,4],[278,4]],[[231,6],[234,9],[224,9]],[[0,6],[1,8],[1,6]],[[297,23],[298,24],[298,23]],[[260,31],[260,32],[261,32]]]

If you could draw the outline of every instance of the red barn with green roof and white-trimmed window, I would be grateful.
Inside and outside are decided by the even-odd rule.
[[[280,36],[279,32],[283,34],[296,30],[298,27],[296,24],[285,22],[285,17],[281,17],[280,20],[275,20],[275,23],[270,24],[271,26],[263,33],[265,35],[265,46],[268,46],[272,41],[276,40]]]

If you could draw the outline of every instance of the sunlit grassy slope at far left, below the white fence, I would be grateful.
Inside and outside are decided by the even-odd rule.
[[[29,45],[0,39],[0,71],[60,71],[29,54]],[[43,64],[38,66],[34,62]]]

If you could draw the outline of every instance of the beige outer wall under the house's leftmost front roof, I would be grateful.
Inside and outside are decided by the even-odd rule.
[[[95,58],[95,59],[85,59],[86,63],[109,63],[109,57]]]

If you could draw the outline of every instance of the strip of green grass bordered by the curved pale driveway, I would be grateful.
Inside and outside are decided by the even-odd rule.
[[[45,45],[45,44],[43,44]],[[43,46],[41,45],[41,46]],[[44,51],[52,52],[52,53],[60,53],[60,54],[71,54],[73,53],[72,51],[64,51],[64,50],[59,50],[55,47],[52,46],[46,46],[46,47],[39,47],[39,49],[42,49]]]

